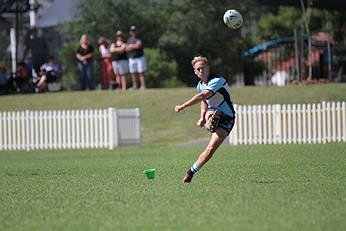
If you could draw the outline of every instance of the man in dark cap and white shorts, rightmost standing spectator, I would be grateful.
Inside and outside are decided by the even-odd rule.
[[[147,70],[147,63],[144,57],[143,40],[138,36],[136,26],[130,27],[130,37],[127,40],[126,52],[129,57],[132,88],[138,88],[137,78],[139,77],[140,89],[145,89],[144,73]]]

